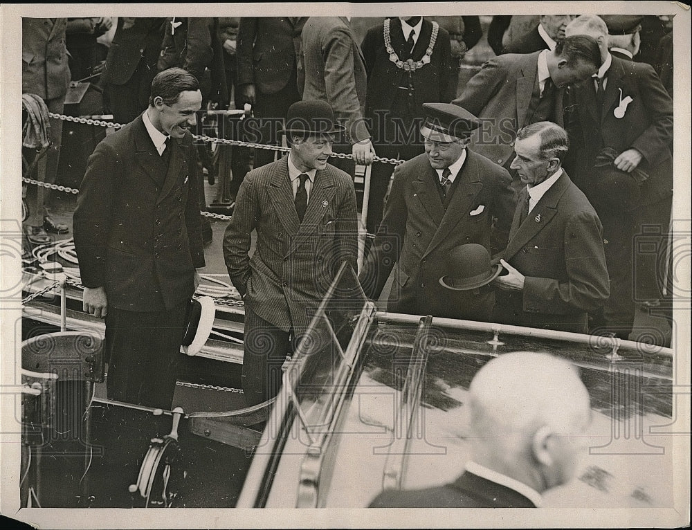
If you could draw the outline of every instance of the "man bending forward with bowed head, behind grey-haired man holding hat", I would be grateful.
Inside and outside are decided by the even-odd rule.
[[[600,65],[598,44],[585,36],[566,38],[555,51],[489,60],[453,101],[483,122],[472,149],[509,169],[516,131],[542,120],[561,125],[563,87],[590,77]]]

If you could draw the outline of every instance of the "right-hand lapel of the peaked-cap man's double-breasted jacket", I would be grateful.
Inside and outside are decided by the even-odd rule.
[[[437,176],[437,174],[435,174],[435,176]],[[443,209],[442,221],[439,223],[435,235],[432,236],[425,254],[432,252],[437,245],[448,237],[452,230],[456,229],[459,221],[463,221],[463,219],[468,217],[473,199],[475,199],[475,196],[483,188],[477,160],[475,157],[471,156],[471,152],[468,149],[466,149],[466,161],[464,161],[462,170],[457,175],[455,185],[457,189],[452,195],[447,210],[444,211]],[[439,199],[437,190],[433,188],[432,191]]]

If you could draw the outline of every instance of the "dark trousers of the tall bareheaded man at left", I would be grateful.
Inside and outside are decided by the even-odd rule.
[[[108,308],[104,350],[109,399],[169,409],[188,304],[170,311]]]

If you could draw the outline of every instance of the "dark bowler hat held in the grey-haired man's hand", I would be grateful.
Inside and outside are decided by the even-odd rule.
[[[447,255],[448,273],[439,283],[453,291],[470,291],[495,280],[502,265],[490,263],[490,253],[479,244],[455,246]]]

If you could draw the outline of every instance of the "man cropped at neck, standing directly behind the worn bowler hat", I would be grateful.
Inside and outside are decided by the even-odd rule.
[[[253,105],[260,120],[255,143],[280,145],[278,124],[291,104],[302,99],[299,88],[300,32],[308,17],[241,17],[238,29],[237,108]],[[275,152],[255,149],[255,167],[274,161]]]

